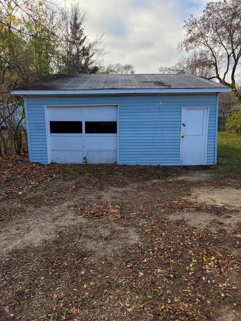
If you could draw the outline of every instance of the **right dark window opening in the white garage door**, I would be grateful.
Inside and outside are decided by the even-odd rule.
[[[116,121],[86,121],[86,134],[116,134]]]

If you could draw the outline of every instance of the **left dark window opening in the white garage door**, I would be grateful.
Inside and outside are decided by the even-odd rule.
[[[51,134],[81,134],[82,121],[50,121]]]

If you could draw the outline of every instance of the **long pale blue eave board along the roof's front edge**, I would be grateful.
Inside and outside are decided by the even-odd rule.
[[[166,93],[219,93],[231,88],[164,88],[164,89],[81,89],[81,90],[13,90],[12,95],[105,95],[105,94],[166,94]]]

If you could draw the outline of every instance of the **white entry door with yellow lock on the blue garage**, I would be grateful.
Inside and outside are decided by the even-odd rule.
[[[205,165],[208,108],[182,108],[180,164]]]

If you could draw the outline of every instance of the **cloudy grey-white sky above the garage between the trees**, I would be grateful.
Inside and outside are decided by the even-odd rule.
[[[67,4],[71,0],[67,0]],[[132,64],[136,73],[157,73],[180,55],[183,21],[197,16],[205,0],[79,0],[87,11],[90,38],[104,34],[108,52],[102,64]]]

